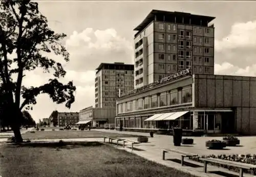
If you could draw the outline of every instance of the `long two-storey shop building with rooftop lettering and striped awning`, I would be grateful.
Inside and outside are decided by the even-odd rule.
[[[115,128],[256,135],[255,87],[256,77],[186,69],[118,98]]]

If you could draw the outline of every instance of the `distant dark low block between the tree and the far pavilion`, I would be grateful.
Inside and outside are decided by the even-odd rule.
[[[57,110],[54,110],[49,117],[51,121],[51,126],[66,126],[71,125],[74,126],[79,120],[79,113],[77,112],[58,112]]]

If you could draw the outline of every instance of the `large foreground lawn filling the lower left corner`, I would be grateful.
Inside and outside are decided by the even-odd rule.
[[[6,144],[0,149],[0,175],[5,177],[194,176],[98,142],[61,147]]]

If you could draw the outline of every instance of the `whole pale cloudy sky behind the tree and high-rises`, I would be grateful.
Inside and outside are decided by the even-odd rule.
[[[79,112],[95,105],[95,69],[101,62],[133,63],[133,29],[152,9],[215,16],[215,74],[256,76],[256,2],[253,1],[39,1],[39,11],[63,41],[70,61],[62,82],[73,80],[77,90],[71,109],[48,95],[37,97],[29,110],[33,119],[48,118],[53,110]],[[53,55],[53,54],[51,54]],[[53,56],[58,61],[61,57]],[[26,73],[25,86],[39,86],[52,75],[36,69]]]

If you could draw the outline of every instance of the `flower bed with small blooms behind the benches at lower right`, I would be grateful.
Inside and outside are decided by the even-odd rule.
[[[246,155],[244,155],[244,154],[232,154],[232,155],[221,154],[218,156],[212,154],[209,156],[189,157],[190,160],[194,160],[194,161],[203,163],[203,161],[201,161],[200,158],[216,158],[216,159],[222,159],[222,160],[227,160],[227,161],[241,162],[241,163],[256,165],[256,154],[253,154],[253,155],[251,155],[251,154],[246,154]],[[216,163],[209,163],[209,164],[239,172],[239,168],[237,168],[237,167],[231,167],[231,166],[221,165],[221,164],[216,164]],[[251,168],[250,170],[245,170],[244,172],[250,173],[252,175],[256,175],[256,168]]]

